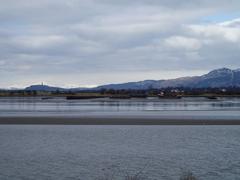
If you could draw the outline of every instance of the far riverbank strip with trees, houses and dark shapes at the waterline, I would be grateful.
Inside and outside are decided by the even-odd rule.
[[[146,97],[240,97],[240,88],[164,88],[164,89],[100,89],[82,91],[30,91],[30,90],[0,90],[0,96],[64,96],[87,98],[146,98]]]

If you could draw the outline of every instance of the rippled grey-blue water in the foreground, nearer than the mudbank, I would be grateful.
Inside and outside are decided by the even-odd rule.
[[[240,178],[238,126],[1,125],[0,179]]]

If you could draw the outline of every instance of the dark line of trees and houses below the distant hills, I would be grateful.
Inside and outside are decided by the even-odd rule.
[[[38,96],[38,95],[78,95],[78,94],[99,94],[99,95],[146,95],[146,96],[158,96],[159,94],[171,96],[199,96],[206,94],[213,95],[239,95],[240,87],[221,87],[221,88],[161,88],[161,89],[145,89],[145,90],[134,90],[134,89],[88,89],[81,91],[30,91],[30,90],[0,90],[0,96]]]

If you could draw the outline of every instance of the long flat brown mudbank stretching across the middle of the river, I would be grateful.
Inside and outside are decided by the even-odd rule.
[[[239,120],[126,117],[0,117],[0,125],[240,125]]]

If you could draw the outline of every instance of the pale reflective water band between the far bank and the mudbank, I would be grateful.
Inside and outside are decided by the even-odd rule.
[[[63,97],[42,99],[41,97],[11,97],[0,98],[0,115],[138,115],[138,114],[193,114],[205,112],[229,112],[238,116],[240,98],[206,98],[182,99],[92,99],[66,100]],[[167,113],[168,112],[168,113]],[[184,114],[183,114],[184,112]],[[231,112],[231,113],[230,113]],[[217,114],[216,114],[217,115]]]

